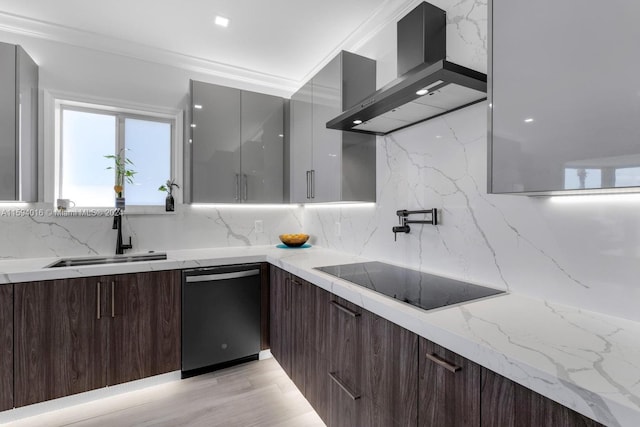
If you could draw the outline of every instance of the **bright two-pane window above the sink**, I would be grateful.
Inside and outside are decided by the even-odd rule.
[[[173,118],[133,114],[110,107],[61,104],[58,197],[78,207],[114,206],[113,160],[120,153],[136,174],[124,183],[127,206],[164,205],[158,187],[173,178]]]

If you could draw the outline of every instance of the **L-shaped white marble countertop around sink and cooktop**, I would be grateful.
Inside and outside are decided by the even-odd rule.
[[[640,425],[638,322],[518,294],[424,311],[314,270],[370,261],[318,247],[180,250],[165,261],[44,268],[56,260],[0,261],[0,284],[267,261],[607,426]]]

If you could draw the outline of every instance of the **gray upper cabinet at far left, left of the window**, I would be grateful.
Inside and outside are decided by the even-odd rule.
[[[0,200],[38,199],[38,66],[0,43]]]

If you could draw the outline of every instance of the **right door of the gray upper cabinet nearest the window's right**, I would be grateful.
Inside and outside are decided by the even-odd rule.
[[[242,201],[282,203],[284,181],[284,100],[242,91]]]

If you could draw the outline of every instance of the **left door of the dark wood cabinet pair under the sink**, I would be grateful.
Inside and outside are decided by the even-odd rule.
[[[105,283],[100,278],[15,286],[15,406],[104,387]]]

